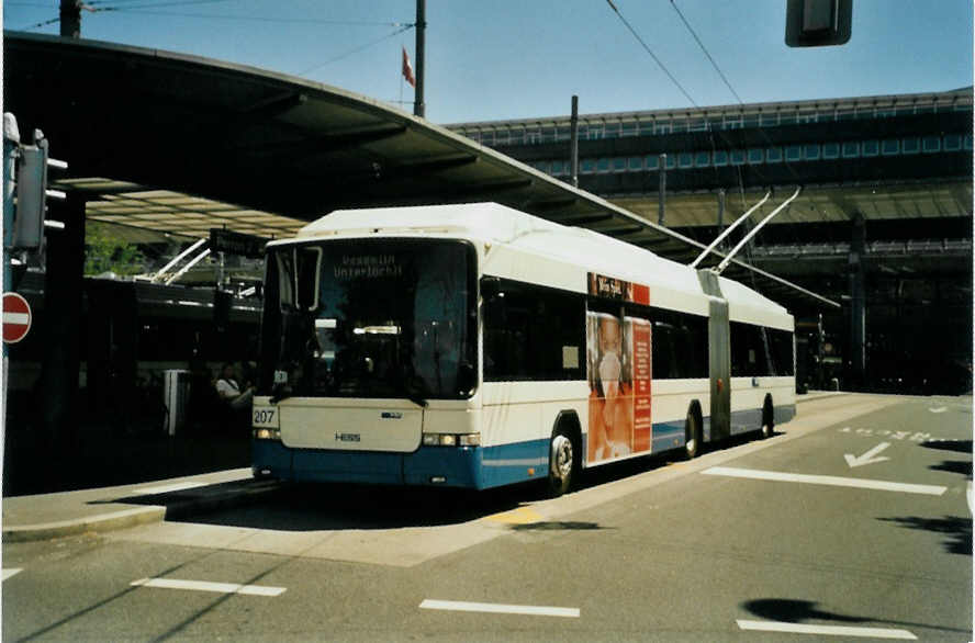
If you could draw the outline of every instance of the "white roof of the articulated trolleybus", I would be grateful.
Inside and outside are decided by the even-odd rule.
[[[362,235],[457,235],[488,244],[503,244],[547,256],[607,277],[704,297],[697,271],[650,250],[596,232],[563,226],[497,203],[461,203],[368,210],[338,210],[310,223],[290,240],[301,242]],[[791,328],[787,311],[750,287],[719,278],[732,319]],[[769,315],[777,320],[769,319]]]

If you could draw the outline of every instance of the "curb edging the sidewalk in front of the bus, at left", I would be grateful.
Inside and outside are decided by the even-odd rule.
[[[203,495],[192,499],[175,499],[176,501],[169,505],[165,503],[165,495],[160,495],[159,499],[162,501],[158,505],[132,507],[119,511],[76,518],[74,520],[57,520],[38,524],[4,527],[3,542],[52,540],[55,538],[80,535],[88,532],[105,533],[143,524],[162,522],[167,519],[184,519],[210,511],[246,506],[282,486],[281,483],[278,483],[277,481],[246,481],[243,484],[236,484],[237,487],[218,489],[215,492],[203,487],[201,489]]]

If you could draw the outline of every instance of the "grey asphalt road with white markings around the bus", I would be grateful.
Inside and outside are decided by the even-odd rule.
[[[971,641],[972,421],[971,397],[841,396],[556,500],[313,486],[4,544],[2,635]]]

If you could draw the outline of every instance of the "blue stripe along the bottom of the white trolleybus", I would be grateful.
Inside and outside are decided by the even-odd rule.
[[[761,428],[761,409],[731,414],[733,432]],[[776,406],[775,422],[795,417],[795,405]],[[703,418],[709,439],[710,418]],[[586,436],[583,437],[585,442]],[[684,420],[653,425],[652,451],[684,445]],[[280,442],[254,440],[256,475],[293,482],[357,482],[485,489],[540,480],[548,475],[549,441],[531,440],[497,447],[421,447],[413,453],[292,450]],[[582,445],[585,453],[585,444]],[[530,470],[530,473],[529,473]],[[434,480],[442,478],[442,482]]]

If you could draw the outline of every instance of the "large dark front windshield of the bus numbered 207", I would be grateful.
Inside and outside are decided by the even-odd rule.
[[[334,240],[268,253],[260,387],[274,397],[459,399],[477,384],[474,250]]]

